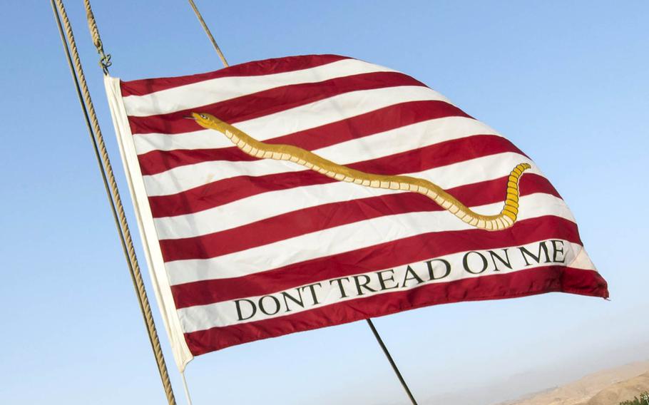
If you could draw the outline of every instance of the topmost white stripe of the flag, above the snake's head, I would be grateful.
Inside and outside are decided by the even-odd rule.
[[[263,76],[213,78],[144,96],[127,96],[123,100],[129,116],[153,116],[206,106],[271,88],[299,83],[317,83],[332,78],[372,72],[395,71],[356,59],[344,59],[299,71]]]

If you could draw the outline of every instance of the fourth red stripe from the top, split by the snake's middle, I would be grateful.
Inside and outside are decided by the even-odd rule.
[[[451,163],[504,152],[523,155],[505,138],[496,135],[474,135],[347,166],[366,173],[399,175],[417,173]],[[149,202],[153,217],[170,217],[207,210],[268,191],[287,190],[306,185],[333,183],[334,181],[336,180],[313,170],[264,176],[237,176],[177,194],[152,196],[149,197]]]

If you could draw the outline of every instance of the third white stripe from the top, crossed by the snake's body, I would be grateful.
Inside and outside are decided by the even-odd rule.
[[[495,130],[479,121],[461,117],[439,118],[348,140],[313,152],[340,165],[349,165],[475,134],[498,135]],[[216,131],[215,135],[228,139]],[[232,146],[232,143],[230,145]],[[305,170],[305,167],[281,160],[260,159],[240,162],[215,160],[147,175],[144,176],[144,183],[150,196],[169,195],[225,178],[241,175],[263,176],[301,170]]]

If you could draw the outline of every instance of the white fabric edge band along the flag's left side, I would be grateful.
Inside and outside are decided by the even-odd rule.
[[[178,369],[182,373],[185,371],[185,366],[194,357],[185,341],[185,335],[180,326],[180,319],[178,318],[178,312],[175,309],[173,295],[171,294],[171,287],[165,270],[165,262],[160,250],[160,244],[158,243],[158,235],[155,232],[153,214],[151,213],[144,188],[143,176],[138,163],[138,154],[135,143],[133,142],[131,126],[128,124],[128,116],[121,96],[120,79],[106,75],[104,76],[103,83],[106,87],[108,106],[113,117],[113,126],[115,127],[119,151],[124,164],[124,171],[126,172],[128,188],[131,190],[131,198],[138,220],[140,237],[143,241],[144,253],[153,284],[153,291],[155,292],[155,299],[158,302],[158,307],[160,307],[165,329],[173,351],[173,358],[175,359],[176,366],[178,366]]]

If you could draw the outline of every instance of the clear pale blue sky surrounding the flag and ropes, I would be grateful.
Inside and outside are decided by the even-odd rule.
[[[66,3],[135,228],[83,7]],[[339,53],[424,81],[528,153],[571,206],[610,302],[553,293],[376,319],[420,404],[489,404],[649,357],[649,2],[197,3],[231,64]],[[113,76],[221,67],[186,1],[93,6]],[[2,14],[0,403],[163,404],[50,6]],[[207,354],[186,375],[196,405],[407,404],[364,322]]]

